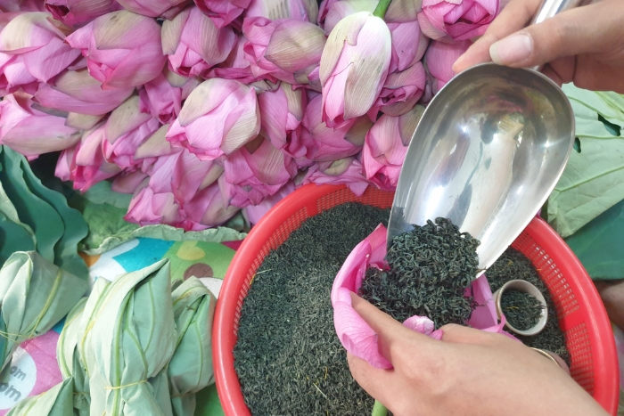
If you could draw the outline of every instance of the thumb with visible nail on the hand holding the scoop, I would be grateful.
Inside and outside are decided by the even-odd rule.
[[[505,37],[489,48],[492,61],[532,67],[564,56],[599,53],[620,37],[621,0],[605,0],[557,14]],[[611,45],[611,46],[610,46]]]

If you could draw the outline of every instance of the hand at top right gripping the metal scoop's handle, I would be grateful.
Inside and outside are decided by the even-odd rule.
[[[488,30],[455,62],[458,73],[482,62],[510,67],[546,64],[560,86],[624,94],[624,2],[602,0],[525,28],[541,0],[511,0]]]

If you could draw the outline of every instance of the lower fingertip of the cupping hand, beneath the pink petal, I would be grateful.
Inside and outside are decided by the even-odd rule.
[[[396,390],[390,388],[396,381],[393,370],[382,370],[374,368],[365,360],[357,358],[355,355],[347,353],[347,361],[349,362],[349,370],[353,379],[357,381],[360,387],[364,388],[366,393],[375,400],[379,400],[382,404],[392,403],[390,392]],[[400,389],[398,389],[400,391]]]

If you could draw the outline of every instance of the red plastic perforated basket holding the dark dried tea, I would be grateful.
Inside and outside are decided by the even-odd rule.
[[[218,396],[226,416],[250,416],[234,371],[233,349],[242,302],[264,257],[310,216],[346,202],[390,208],[394,194],[372,187],[355,196],[348,188],[310,184],[292,192],[257,224],[237,251],[220,292],[213,327]],[[566,334],[572,377],[612,415],[617,413],[619,368],[611,323],[587,272],[559,235],[535,218],[513,242],[535,265],[554,299]]]

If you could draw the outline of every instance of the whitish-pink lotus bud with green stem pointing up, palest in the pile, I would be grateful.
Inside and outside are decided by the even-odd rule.
[[[327,126],[371,110],[388,76],[391,45],[388,25],[370,12],[351,14],[336,25],[319,68]]]

